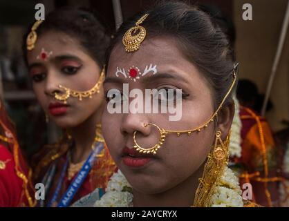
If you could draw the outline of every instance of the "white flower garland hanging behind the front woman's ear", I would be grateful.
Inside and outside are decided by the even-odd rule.
[[[240,105],[236,97],[233,98],[235,103],[235,113],[231,127],[231,138],[229,146],[230,157],[241,157],[241,128],[242,122],[240,119]]]

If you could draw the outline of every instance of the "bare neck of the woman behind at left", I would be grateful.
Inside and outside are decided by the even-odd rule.
[[[82,124],[70,129],[71,137],[75,142],[71,158],[74,164],[86,160],[91,153],[96,125],[101,122],[101,111],[102,109],[99,108],[99,110],[95,111],[95,113],[88,117]]]

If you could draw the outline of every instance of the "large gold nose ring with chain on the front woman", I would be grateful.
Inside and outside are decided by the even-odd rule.
[[[210,117],[207,122],[205,122],[204,124],[202,124],[201,126],[198,126],[197,128],[193,128],[193,129],[189,129],[189,130],[185,130],[185,131],[171,131],[171,130],[166,130],[165,128],[160,128],[158,125],[156,124],[152,124],[152,123],[147,123],[144,126],[154,126],[155,128],[158,129],[159,133],[160,133],[160,138],[158,140],[158,143],[155,144],[154,146],[150,147],[150,148],[143,148],[142,146],[140,146],[140,144],[138,144],[138,142],[136,141],[136,135],[138,133],[138,131],[134,131],[133,132],[133,148],[136,149],[136,151],[140,152],[140,153],[147,153],[147,154],[156,154],[156,152],[158,151],[158,149],[162,146],[162,144],[165,142],[165,138],[169,133],[176,133],[176,135],[178,137],[180,137],[181,134],[186,133],[187,135],[191,135],[194,132],[200,132],[203,129],[207,128],[207,126],[209,126],[209,124],[211,122],[214,122],[214,119],[216,117],[216,115],[218,115],[218,111],[221,110],[225,100],[227,99],[227,97],[230,95],[232,88],[234,87],[234,84],[236,83],[236,73],[235,70],[237,68],[238,64],[234,65],[234,70],[233,70],[233,81],[232,84],[229,88],[229,90],[227,91],[227,94],[225,95],[225,97],[223,98],[221,104],[218,106],[218,108],[216,109],[216,111],[214,112],[214,114],[212,115],[212,117]]]

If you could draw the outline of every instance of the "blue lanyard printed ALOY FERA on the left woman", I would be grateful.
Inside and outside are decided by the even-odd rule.
[[[80,171],[77,173],[71,184],[68,186],[68,189],[62,196],[57,207],[66,207],[71,203],[71,200],[73,200],[75,193],[77,193],[78,189],[80,189],[80,186],[84,182],[89,171],[91,171],[91,167],[93,166],[95,160],[97,160],[97,155],[100,154],[103,147],[104,144],[102,142],[97,142],[95,146],[93,146],[93,151],[91,151],[91,154],[88,156],[86,162],[84,162],[84,164],[82,165],[82,169],[80,169]],[[62,173],[60,175],[59,182],[55,189],[55,193],[53,194],[53,198],[51,198],[50,202],[48,203],[47,205],[48,207],[52,206],[53,204],[55,204],[55,202],[57,202],[57,196],[59,195],[59,191],[62,186],[62,181],[64,180],[67,166],[68,166],[68,159],[66,160],[66,163],[62,169]]]

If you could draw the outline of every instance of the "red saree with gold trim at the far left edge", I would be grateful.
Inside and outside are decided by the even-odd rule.
[[[0,102],[0,207],[35,206],[30,169]]]

